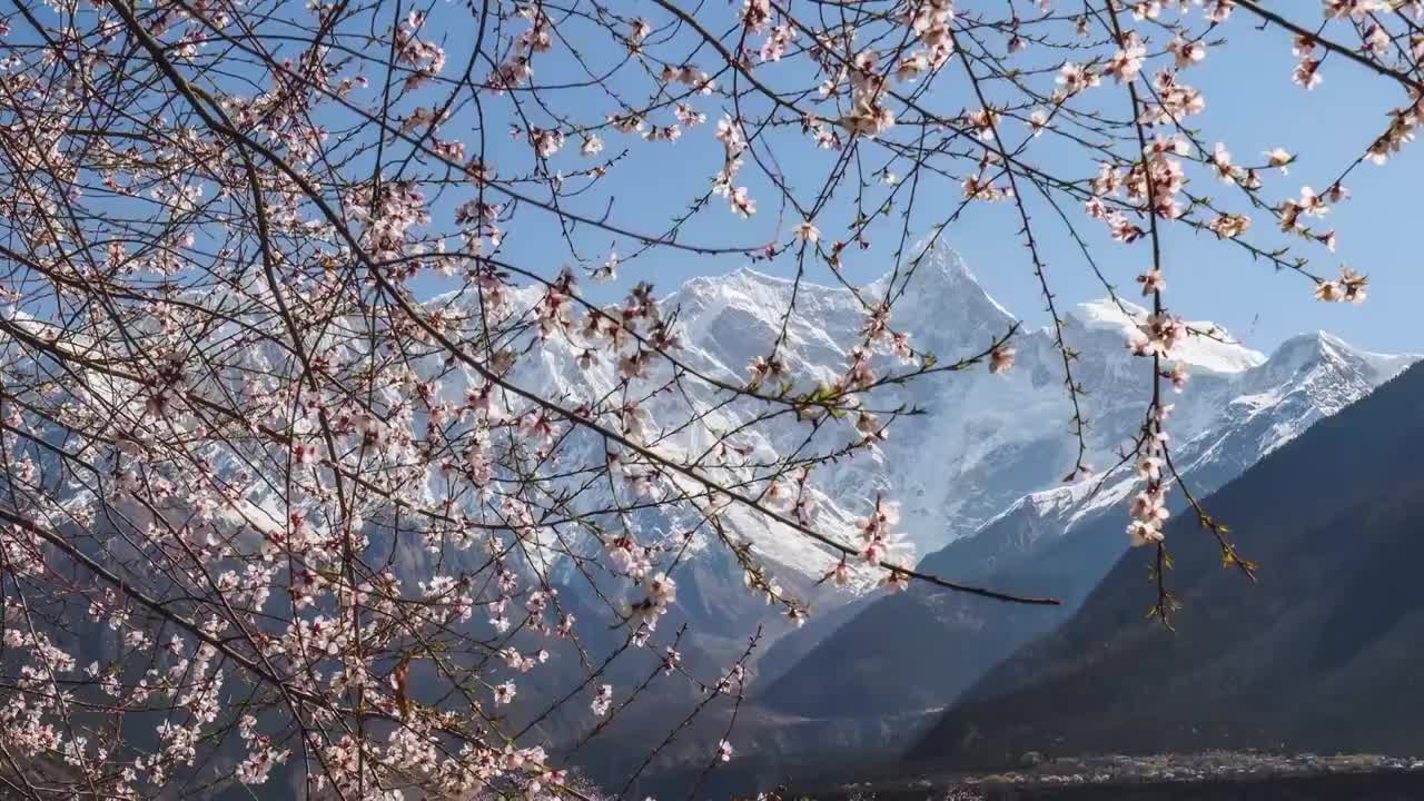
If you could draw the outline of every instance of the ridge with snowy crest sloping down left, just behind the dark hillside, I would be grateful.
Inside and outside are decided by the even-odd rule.
[[[1087,341],[1121,339],[1128,321],[1114,311],[1104,304],[1079,308],[1077,331]],[[1219,343],[1188,358],[1198,372],[1171,416],[1173,462],[1190,490],[1206,499],[1208,512],[1209,493],[1415,361],[1356,351],[1327,334],[1292,338],[1270,358]],[[1115,359],[1085,355],[1084,362],[1111,371]],[[1131,426],[1136,415],[1131,405],[1099,408],[1099,432],[1104,425]],[[920,563],[930,573],[1055,596],[1062,607],[985,604],[933,590],[876,599],[837,621],[833,633],[812,620],[778,643],[765,667],[779,677],[763,687],[763,701],[822,715],[823,698],[853,698],[836,713],[847,718],[948,704],[1017,647],[1067,620],[1128,550],[1126,500],[1141,482],[1131,469],[1124,472],[1028,493]],[[1185,506],[1178,493],[1172,506],[1178,513]],[[1233,539],[1250,559],[1252,532]]]

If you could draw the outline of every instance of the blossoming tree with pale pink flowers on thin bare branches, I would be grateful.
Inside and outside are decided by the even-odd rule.
[[[1005,251],[1052,321],[1077,410],[1068,480],[1094,480],[1091,388],[1041,227],[1078,242],[1085,271],[1102,248],[1142,265],[1151,309],[1128,346],[1143,422],[1121,465],[1096,467],[1141,475],[1128,533],[1156,550],[1168,620],[1169,493],[1252,566],[1172,465],[1168,398],[1189,378],[1173,348],[1220,334],[1172,308],[1165,231],[1277,268],[1303,298],[1363,301],[1323,218],[1363,162],[1413,138],[1421,14],[16,0],[0,10],[4,794],[587,797],[555,750],[639,693],[695,687],[693,715],[740,703],[746,657],[702,674],[659,627],[693,539],[807,614],[733,512],[813,543],[827,583],[1052,603],[917,572],[894,497],[862,499],[849,533],[817,520],[817,469],[914,412],[886,388],[1012,368],[1017,326],[964,353],[896,326],[911,242],[978,205],[1014,221]],[[1286,150],[1236,157],[1193,127],[1193,67],[1247,26],[1279,34],[1287,90],[1351,70],[1397,93],[1358,158],[1297,170],[1320,191],[1286,177]],[[870,292],[852,259],[900,267]],[[651,281],[746,262],[854,292],[864,319],[839,376],[789,369],[785,325],[742,375],[682,348]],[[805,314],[790,296],[785,321]],[[550,371],[555,385],[535,381]],[[796,442],[746,445],[786,420]],[[575,614],[570,584],[601,603]],[[537,696],[554,651],[577,681]],[[646,681],[609,683],[608,663],[638,653]],[[541,711],[511,724],[515,698]],[[628,747],[656,753],[685,725]],[[729,728],[708,770],[733,743]]]

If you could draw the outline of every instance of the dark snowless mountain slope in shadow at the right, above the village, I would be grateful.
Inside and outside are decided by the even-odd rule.
[[[1193,520],[1175,520],[1176,631],[1145,620],[1149,554],[1132,552],[1067,624],[965,693],[910,760],[1424,751],[1424,369],[1319,422],[1208,506],[1262,563],[1257,584],[1223,570]]]

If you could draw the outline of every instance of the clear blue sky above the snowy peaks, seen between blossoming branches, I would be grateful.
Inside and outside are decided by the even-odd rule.
[[[651,20],[662,20],[652,7],[629,0],[619,7],[628,16],[644,13]],[[721,4],[715,4],[721,6]],[[725,9],[713,9],[715,14],[726,14]],[[1312,6],[1312,14],[1316,10]],[[459,6],[436,11],[437,21],[449,29],[447,47],[451,51],[450,64],[463,64],[457,41],[464,38],[470,21],[467,11]],[[1313,19],[1313,17],[1312,17]],[[523,24],[517,21],[514,24]],[[716,30],[715,24],[709,26]],[[1193,118],[1193,125],[1206,143],[1226,141],[1237,162],[1260,164],[1262,151],[1270,147],[1284,147],[1299,155],[1290,167],[1289,177],[1266,175],[1267,192],[1272,200],[1294,197],[1303,184],[1316,190],[1324,188],[1339,171],[1353,160],[1387,124],[1387,111],[1404,103],[1403,91],[1390,81],[1366,73],[1361,67],[1341,58],[1331,58],[1323,70],[1324,83],[1313,93],[1290,83],[1294,66],[1290,54],[1290,38],[1280,31],[1260,31],[1253,21],[1239,13],[1222,31],[1229,47],[1216,47],[1206,61],[1183,73],[1183,80],[1200,87],[1208,97],[1206,113]],[[554,56],[555,58],[558,56]],[[713,66],[715,57],[706,51],[693,54],[693,63]],[[1044,63],[1055,63],[1052,56],[1044,56]],[[557,61],[544,61],[540,77],[548,80],[558,74]],[[765,73],[765,80],[775,81],[778,67]],[[484,73],[486,68],[480,68]],[[763,74],[763,73],[759,73]],[[790,76],[795,77],[795,76]],[[956,84],[964,84],[963,73],[951,70],[940,78],[947,88],[956,91]],[[1047,87],[1049,77],[1041,78]],[[638,87],[644,90],[646,80],[619,83],[614,86]],[[1121,94],[1121,90],[1104,86],[1102,93]],[[609,108],[597,90],[548,95],[561,113],[581,121],[600,120]],[[641,95],[637,95],[641,97]],[[595,100],[597,98],[597,100]],[[943,111],[956,111],[965,105],[963,98],[931,97],[931,105]],[[639,231],[662,231],[671,214],[685,208],[691,194],[702,191],[708,180],[721,165],[721,145],[712,141],[712,125],[721,115],[721,100],[698,98],[696,105],[706,111],[708,124],[689,131],[675,144],[645,144],[632,137],[609,133],[605,155],[631,145],[632,155],[619,164],[614,178],[604,190],[587,200],[571,201],[571,208],[601,217],[605,211],[609,188],[615,195],[611,219]],[[501,175],[521,172],[531,162],[528,148],[523,143],[511,143],[508,135],[508,100],[503,111],[486,108],[490,131],[490,161]],[[538,124],[547,120],[538,108],[527,107],[530,120]],[[500,114],[504,114],[501,117]],[[659,124],[671,123],[658,118]],[[501,121],[503,120],[503,121]],[[466,137],[473,117],[461,111],[443,130],[444,137]],[[1017,143],[1022,125],[1005,125],[1008,138]],[[833,151],[809,148],[799,133],[772,134],[786,140],[782,153],[790,154],[782,168],[792,175],[792,184],[800,195],[810,197],[810,188],[824,178],[834,160]],[[565,170],[577,170],[588,164],[578,157],[578,140],[570,138],[554,164]],[[471,143],[473,145],[473,143]],[[1168,235],[1165,268],[1168,274],[1169,305],[1189,319],[1212,319],[1225,325],[1237,338],[1260,349],[1270,349],[1282,339],[1304,331],[1327,329],[1357,346],[1377,351],[1424,352],[1424,328],[1413,325],[1417,304],[1424,298],[1424,277],[1420,274],[1420,257],[1413,235],[1424,227],[1424,214],[1411,197],[1415,184],[1424,180],[1424,155],[1421,145],[1405,147],[1387,167],[1364,164],[1347,181],[1354,200],[1341,204],[1326,218],[1324,227],[1340,232],[1340,249],[1327,254],[1323,248],[1303,247],[1313,258],[1317,272],[1333,274],[1339,264],[1364,271],[1370,275],[1370,299],[1363,306],[1344,304],[1321,304],[1310,296],[1306,279],[1292,274],[1277,274],[1269,265],[1252,262],[1240,249],[1220,244],[1210,235],[1192,234],[1185,227],[1175,227]],[[474,148],[471,147],[471,151]],[[1052,145],[1034,145],[1030,158],[1049,168],[1087,175],[1092,164],[1079,151],[1071,165],[1068,161],[1052,162]],[[867,170],[879,167],[867,161]],[[748,165],[746,171],[755,171]],[[1203,191],[1209,180],[1198,172],[1193,191]],[[780,239],[789,237],[789,228],[800,221],[796,214],[779,218],[775,195],[755,180],[746,180],[759,200],[759,211],[752,221],[735,218],[721,198],[712,198],[709,208],[698,214],[686,228],[686,239],[693,242],[729,244],[765,242],[780,225]],[[879,187],[877,191],[883,191]],[[1250,211],[1239,194],[1222,184],[1205,190],[1213,198],[1229,198],[1233,211]],[[921,190],[916,215],[916,235],[923,235],[930,219],[943,217],[960,200],[957,185],[940,181]],[[1049,279],[1065,304],[1092,299],[1102,295],[1101,286],[1088,271],[1077,247],[1064,234],[1054,212],[1037,197],[1030,198],[1034,219],[1042,237],[1044,252],[1049,262]],[[829,210],[822,228],[832,234],[844,231],[852,205],[840,197]],[[1069,208],[1081,217],[1079,208]],[[535,221],[537,214],[521,214],[510,229],[506,254],[521,265],[534,265],[553,274],[568,259],[568,248],[558,241],[558,229]],[[1279,244],[1274,221],[1263,212],[1252,212],[1255,227],[1250,238],[1263,245]],[[1319,221],[1317,221],[1319,222]],[[1084,231],[1096,232],[1101,225],[1082,219]],[[1169,227],[1171,228],[1171,227]],[[950,242],[960,249],[971,268],[978,274],[988,291],[1014,314],[1031,321],[1044,322],[1042,299],[1030,272],[1027,251],[1017,235],[1018,219],[1012,205],[978,204],[965,214],[957,225],[948,229]],[[869,281],[890,267],[891,238],[884,232],[871,251],[847,251],[846,275],[854,281]],[[575,232],[587,264],[601,261],[608,249],[617,248],[628,254],[634,245],[618,241],[607,232],[582,229]],[[1135,294],[1132,278],[1148,264],[1149,251],[1143,242],[1125,247],[1094,239],[1095,255],[1101,259],[1109,278],[1126,292]],[[659,291],[669,291],[681,281],[706,274],[726,272],[748,262],[742,257],[695,257],[688,254],[656,251],[649,258],[628,262],[622,267],[621,281],[614,288],[591,289],[595,298],[612,298],[621,294],[621,286],[631,281],[652,281]],[[786,274],[795,269],[795,259],[783,257],[773,264],[759,264],[758,269]],[[829,281],[824,268],[817,268],[813,279]]]

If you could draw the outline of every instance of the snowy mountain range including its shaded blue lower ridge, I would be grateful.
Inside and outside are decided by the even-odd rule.
[[[880,279],[866,294],[884,285]],[[787,281],[739,271],[695,279],[666,304],[681,306],[689,346],[735,375],[775,338],[790,288]],[[1014,321],[946,247],[921,259],[910,288],[891,322],[941,359],[981,351]],[[803,284],[797,292],[787,368],[792,375],[836,375],[864,311],[846,289]],[[1088,389],[1087,460],[1099,470],[1119,460],[1119,448],[1138,432],[1146,410],[1151,366],[1125,348],[1134,319],[1145,314],[1131,304],[1096,301],[1072,308],[1065,319],[1064,338],[1079,353],[1072,362],[1075,381]],[[827,505],[822,523],[849,529],[874,493],[884,493],[901,505],[903,532],[928,553],[923,570],[1055,594],[1067,607],[1011,607],[927,587],[859,599],[812,596],[822,609],[803,629],[768,627],[773,641],[758,661],[756,704],[739,728],[743,748],[768,755],[769,765],[812,764],[837,748],[863,758],[893,747],[896,733],[903,737],[916,720],[928,720],[927,710],[950,703],[995,661],[1067,619],[1128,549],[1126,499],[1138,486],[1131,465],[1106,475],[1101,486],[1099,480],[1062,483],[1077,443],[1061,356],[1044,329],[1021,331],[1014,345],[1018,356],[1008,373],[973,369],[897,389],[894,400],[926,413],[897,422],[879,453],[817,472]],[[1168,428],[1173,459],[1198,496],[1415,361],[1357,351],[1327,334],[1293,338],[1267,356],[1219,329],[1215,338],[1189,339],[1175,356],[1190,379],[1171,398]],[[802,560],[780,547],[775,532],[746,533],[778,562],[787,584],[809,589],[823,570],[817,556]],[[1250,543],[1240,544],[1249,557]],[[686,576],[685,583],[679,577],[686,589],[679,604],[691,604],[689,630],[701,626],[739,646],[736,634],[745,636],[768,613],[738,599],[735,582],[722,574],[735,564],[712,553],[679,567]],[[711,596],[703,597],[703,586]],[[891,725],[886,717],[891,714],[909,717]],[[722,730],[712,728],[708,735],[721,737]]]

